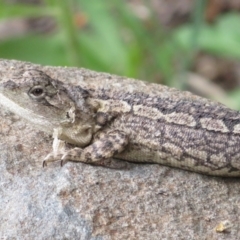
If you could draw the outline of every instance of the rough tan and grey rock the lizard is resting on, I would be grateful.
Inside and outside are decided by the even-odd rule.
[[[0,60],[0,81],[25,65],[63,81],[103,75]],[[239,239],[240,179],[155,164],[42,168],[51,142],[0,106],[0,239]],[[217,233],[225,220],[229,231]]]

